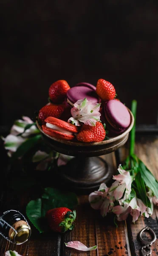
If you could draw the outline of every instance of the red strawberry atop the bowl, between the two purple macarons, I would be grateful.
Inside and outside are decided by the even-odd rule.
[[[98,80],[96,85],[96,93],[104,101],[114,99],[116,95],[116,91],[113,84],[104,79]]]

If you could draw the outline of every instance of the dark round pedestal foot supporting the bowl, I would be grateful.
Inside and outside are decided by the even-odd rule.
[[[65,186],[82,194],[98,190],[101,183],[109,183],[113,176],[101,157],[74,157],[58,172]]]

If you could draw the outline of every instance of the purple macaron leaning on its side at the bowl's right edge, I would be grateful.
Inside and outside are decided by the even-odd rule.
[[[102,119],[110,136],[122,134],[130,125],[129,111],[123,103],[115,99],[106,102]]]

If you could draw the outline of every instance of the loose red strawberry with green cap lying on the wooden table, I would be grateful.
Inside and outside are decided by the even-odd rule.
[[[76,211],[72,212],[66,207],[54,208],[46,212],[46,218],[51,230],[64,233],[67,230],[73,229]]]

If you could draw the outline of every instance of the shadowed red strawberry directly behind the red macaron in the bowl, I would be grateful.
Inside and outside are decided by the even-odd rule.
[[[43,108],[40,109],[40,112],[38,114],[39,121],[42,124],[45,124],[45,119],[48,116],[59,118],[62,112],[64,111],[64,109],[65,108],[63,105],[54,105],[54,104],[45,105]]]

